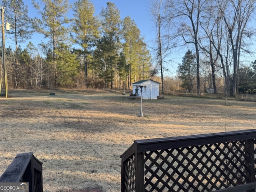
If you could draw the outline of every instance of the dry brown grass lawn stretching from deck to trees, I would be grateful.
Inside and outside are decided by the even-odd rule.
[[[256,103],[121,92],[10,90],[0,99],[0,174],[18,153],[43,164],[45,192],[120,191],[120,155],[134,140],[255,128]]]

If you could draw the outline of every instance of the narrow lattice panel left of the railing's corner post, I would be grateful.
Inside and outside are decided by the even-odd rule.
[[[125,192],[135,192],[135,156],[132,155],[124,165]]]

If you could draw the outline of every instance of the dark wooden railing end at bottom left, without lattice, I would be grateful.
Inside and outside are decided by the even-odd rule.
[[[28,182],[29,192],[42,192],[42,164],[33,152],[18,154],[0,177],[0,182]]]

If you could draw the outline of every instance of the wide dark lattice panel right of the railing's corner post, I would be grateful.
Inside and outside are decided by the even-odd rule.
[[[248,154],[245,141],[145,152],[145,191],[210,192],[245,184]]]

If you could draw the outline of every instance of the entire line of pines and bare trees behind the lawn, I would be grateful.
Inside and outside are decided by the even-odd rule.
[[[184,88],[200,94],[208,82],[217,93],[223,78],[226,96],[236,96],[248,90],[244,78],[254,72],[245,61],[254,54],[250,47],[255,37],[255,2],[148,0],[156,27],[149,51],[134,20],[129,16],[121,20],[111,2],[95,15],[90,0],[72,5],[68,0],[32,0],[38,17],[29,18],[22,0],[3,0],[11,24],[8,36],[16,44],[15,50],[6,49],[8,84],[13,88],[130,89],[132,82],[160,72],[164,93],[170,55],[187,49],[177,70]],[[69,10],[72,18],[67,17]],[[30,42],[24,49],[18,46],[34,33],[43,34],[46,41],[36,46]],[[187,78],[184,64],[189,62],[192,72]]]

